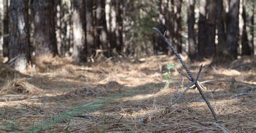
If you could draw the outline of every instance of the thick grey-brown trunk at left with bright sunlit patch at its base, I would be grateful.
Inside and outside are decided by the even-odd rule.
[[[10,1],[10,41],[9,60],[14,58],[14,68],[18,71],[26,69],[30,60],[29,43],[29,1]]]

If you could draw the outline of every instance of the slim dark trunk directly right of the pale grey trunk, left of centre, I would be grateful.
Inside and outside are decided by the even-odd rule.
[[[87,45],[87,56],[91,57],[93,55],[93,49],[95,50],[97,47],[94,45],[94,29],[93,29],[93,14],[92,0],[85,0],[86,6],[86,45]]]

